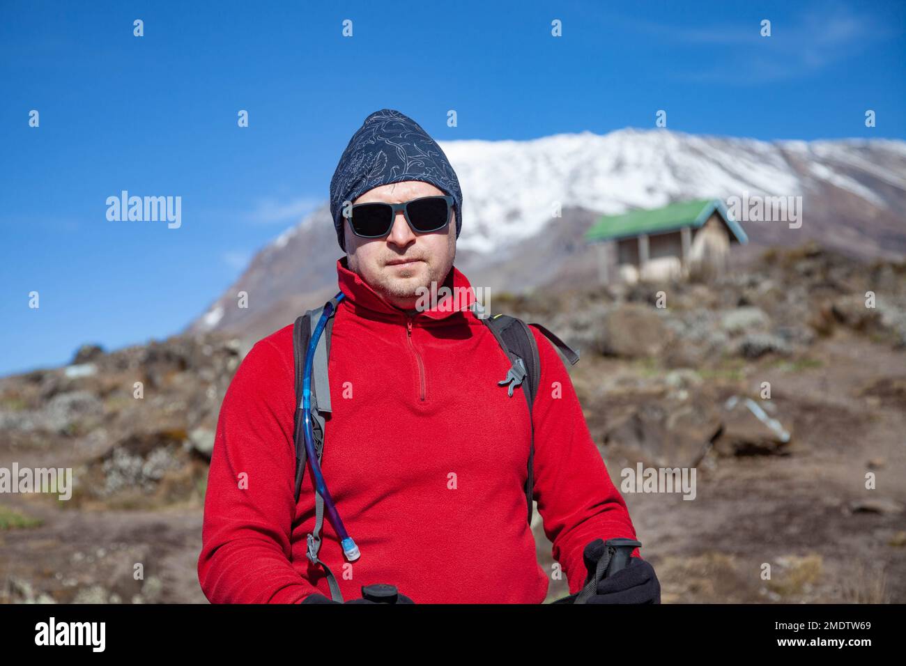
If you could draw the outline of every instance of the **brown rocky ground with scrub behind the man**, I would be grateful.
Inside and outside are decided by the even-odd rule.
[[[665,603],[906,601],[906,265],[805,246],[713,284],[491,307],[582,350],[573,383],[615,484],[640,462],[695,469],[694,499],[624,493]],[[0,602],[205,601],[207,459],[239,361],[199,334],[0,379],[0,467],[76,481],[68,501],[0,495]]]

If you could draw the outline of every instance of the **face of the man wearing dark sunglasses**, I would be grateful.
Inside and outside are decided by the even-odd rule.
[[[406,180],[370,189],[352,205],[373,201],[403,203],[413,198],[443,195],[430,183]],[[360,238],[352,233],[349,220],[343,219],[344,240],[350,270],[359,274],[372,289],[390,304],[412,310],[419,300],[419,287],[438,288],[446,279],[456,256],[456,210],[450,211],[447,227],[427,234],[412,231],[402,211],[393,220],[390,234],[384,238]],[[407,261],[404,265],[390,262]]]

